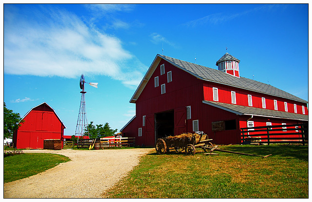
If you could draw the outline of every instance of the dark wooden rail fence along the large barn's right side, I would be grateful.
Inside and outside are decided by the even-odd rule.
[[[309,141],[309,124],[267,125],[240,128],[241,142],[259,143],[302,143]]]

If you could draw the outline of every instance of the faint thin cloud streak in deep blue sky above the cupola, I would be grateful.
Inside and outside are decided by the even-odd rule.
[[[208,16],[205,16],[203,18],[188,21],[182,25],[188,26],[188,27],[195,27],[195,26],[202,25],[202,24],[213,24],[214,25],[214,24],[219,24],[219,23],[225,22],[225,21],[233,20],[233,19],[238,18],[240,16],[244,16],[244,15],[247,15],[249,13],[259,11],[259,10],[270,10],[274,7],[279,7],[279,6],[280,5],[278,5],[278,4],[266,4],[266,5],[258,6],[258,7],[255,7],[253,9],[246,10],[246,11],[239,12],[239,13],[232,13],[232,14],[215,13],[215,14],[210,14]]]

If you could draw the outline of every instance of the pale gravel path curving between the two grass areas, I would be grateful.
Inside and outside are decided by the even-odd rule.
[[[54,153],[72,161],[37,175],[5,183],[4,198],[100,198],[152,148],[105,150],[26,150]]]

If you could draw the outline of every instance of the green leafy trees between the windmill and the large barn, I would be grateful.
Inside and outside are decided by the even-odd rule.
[[[88,124],[89,136],[91,139],[103,138],[107,136],[113,136],[117,132],[117,129],[113,130],[108,123],[93,125],[93,121]]]

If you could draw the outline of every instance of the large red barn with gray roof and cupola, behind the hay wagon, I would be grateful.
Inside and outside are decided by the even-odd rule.
[[[157,55],[133,97],[136,116],[122,129],[137,145],[204,131],[217,144],[240,144],[240,128],[308,122],[307,101],[239,75],[239,60],[226,53],[218,69]],[[212,127],[223,122],[220,131]]]

